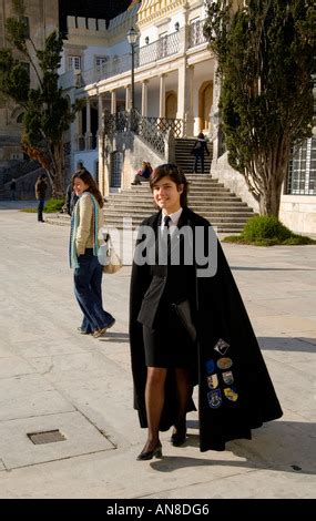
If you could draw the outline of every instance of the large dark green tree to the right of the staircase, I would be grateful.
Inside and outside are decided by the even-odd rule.
[[[312,135],[314,0],[207,0],[230,164],[262,214],[278,216],[290,149]],[[233,9],[234,7],[234,9]]]

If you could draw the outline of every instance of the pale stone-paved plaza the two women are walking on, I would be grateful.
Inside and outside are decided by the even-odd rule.
[[[0,498],[314,498],[316,246],[224,245],[284,410],[225,452],[188,439],[136,461],[145,431],[132,408],[130,266],[103,280],[116,324],[79,335],[69,227],[0,203]],[[20,204],[21,205],[21,204]],[[256,389],[254,389],[256,392]],[[64,440],[27,436],[60,430]]]

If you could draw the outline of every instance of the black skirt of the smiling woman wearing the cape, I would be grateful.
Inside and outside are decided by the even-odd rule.
[[[147,367],[190,368],[196,361],[196,347],[175,311],[166,306],[155,329],[143,325]]]

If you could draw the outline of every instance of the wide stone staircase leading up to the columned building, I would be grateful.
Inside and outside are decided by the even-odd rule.
[[[207,218],[217,233],[239,233],[246,221],[254,215],[246,203],[225,188],[210,174],[212,161],[212,145],[208,144],[210,157],[205,156],[203,174],[192,174],[194,157],[191,155],[195,139],[175,140],[175,162],[186,174],[190,183],[190,207]],[[106,196],[104,204],[105,224],[108,227],[122,229],[123,218],[132,219],[135,228],[147,216],[155,212],[153,197],[147,182],[142,185],[131,186],[120,193]],[[45,216],[53,224],[68,224],[68,215]]]

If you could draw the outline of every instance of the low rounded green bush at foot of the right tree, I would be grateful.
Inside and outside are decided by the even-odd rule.
[[[256,215],[247,221],[241,235],[225,237],[226,243],[252,244],[254,246],[299,246],[316,244],[309,237],[294,234],[275,216]]]

